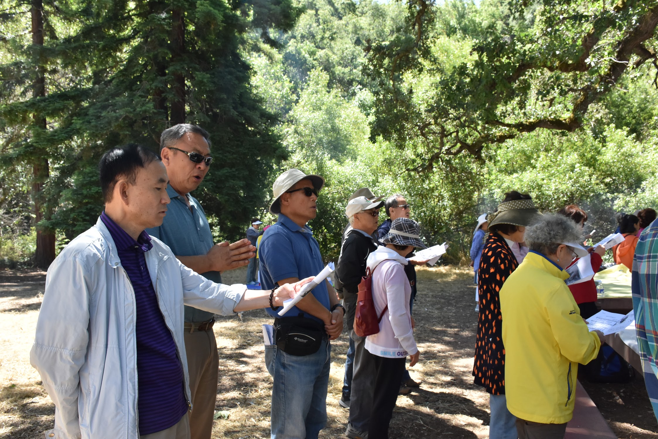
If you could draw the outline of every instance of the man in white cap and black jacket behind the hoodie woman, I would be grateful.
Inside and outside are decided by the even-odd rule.
[[[343,395],[339,401],[342,407],[349,407],[351,399],[351,381],[356,346],[351,338],[357,304],[359,282],[366,274],[366,259],[371,251],[377,249],[372,234],[377,230],[379,209],[384,201],[368,201],[365,196],[351,199],[345,207],[345,216],[351,228],[343,240],[336,267],[336,274],[343,288],[343,304],[347,308],[346,323],[350,334],[350,349],[345,361],[343,378]],[[350,355],[351,353],[351,355]],[[351,358],[350,358],[351,356]]]

